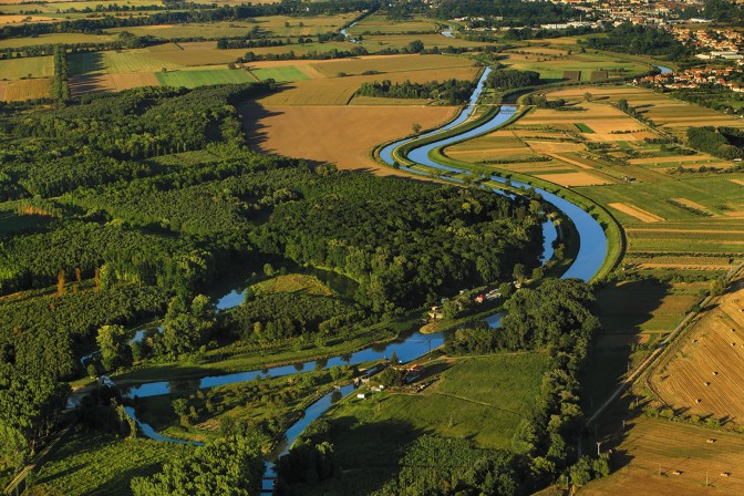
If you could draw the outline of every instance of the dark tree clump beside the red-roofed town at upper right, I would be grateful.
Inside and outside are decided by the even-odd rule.
[[[691,53],[669,31],[630,22],[610,29],[603,37],[588,38],[586,46],[633,55],[669,55],[674,59]]]

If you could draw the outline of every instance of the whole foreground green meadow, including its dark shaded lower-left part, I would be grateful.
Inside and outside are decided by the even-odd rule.
[[[423,393],[354,395],[329,413],[337,475],[308,496],[369,494],[397,469],[403,447],[422,434],[467,438],[480,447],[512,450],[518,422],[533,406],[547,355],[494,354],[430,364],[442,374]]]

